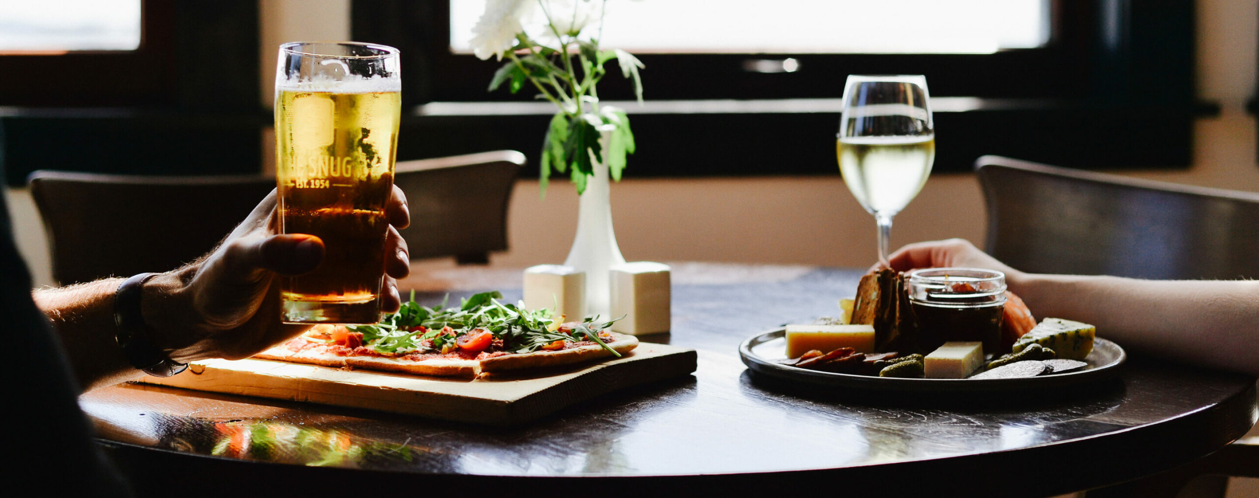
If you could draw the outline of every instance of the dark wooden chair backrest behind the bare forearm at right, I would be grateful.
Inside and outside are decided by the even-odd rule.
[[[1259,278],[1259,194],[998,156],[976,161],[986,249],[1036,273]]]

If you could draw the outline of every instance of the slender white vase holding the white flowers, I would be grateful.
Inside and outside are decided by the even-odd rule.
[[[601,145],[607,150],[608,135],[603,135]],[[585,192],[582,194],[577,210],[577,235],[573,248],[568,252],[565,265],[585,272],[585,314],[598,314],[601,319],[611,319],[611,296],[608,269],[624,263],[617,235],[612,230],[612,202],[608,197],[608,165],[590,156],[594,176],[588,177]]]

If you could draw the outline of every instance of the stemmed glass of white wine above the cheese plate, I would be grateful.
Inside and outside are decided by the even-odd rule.
[[[879,263],[888,265],[891,218],[927,184],[935,126],[923,75],[850,74],[835,153],[852,196],[879,225]]]

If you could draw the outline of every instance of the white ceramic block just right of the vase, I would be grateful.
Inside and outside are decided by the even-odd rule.
[[[621,333],[645,335],[670,329],[669,265],[632,262],[612,265],[608,272],[612,287],[612,316],[621,318],[612,329]]]

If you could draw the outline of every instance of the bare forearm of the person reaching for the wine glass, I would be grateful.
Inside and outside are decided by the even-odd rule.
[[[1259,375],[1259,282],[1029,274],[1010,288],[1036,317],[1092,323],[1128,348]]]

